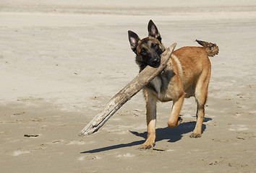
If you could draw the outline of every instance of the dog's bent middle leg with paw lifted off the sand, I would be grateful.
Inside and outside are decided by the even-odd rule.
[[[175,128],[180,123],[182,123],[182,118],[179,117],[179,112],[182,110],[182,105],[184,101],[185,93],[183,93],[179,99],[174,100],[172,110],[171,110],[171,117],[168,120],[168,127]]]

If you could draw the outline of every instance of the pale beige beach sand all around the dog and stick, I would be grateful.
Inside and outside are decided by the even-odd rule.
[[[0,172],[256,172],[256,1],[14,1],[0,3]],[[202,138],[195,99],[156,145],[140,92],[92,136],[78,133],[138,73],[127,30],[153,19],[168,46],[217,43]]]

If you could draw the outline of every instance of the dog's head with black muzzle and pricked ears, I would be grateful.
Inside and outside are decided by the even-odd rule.
[[[140,68],[152,66],[157,68],[161,63],[161,54],[165,50],[161,43],[161,35],[152,20],[148,22],[148,37],[140,40],[140,37],[132,31],[128,31],[129,43],[136,54],[136,62]]]

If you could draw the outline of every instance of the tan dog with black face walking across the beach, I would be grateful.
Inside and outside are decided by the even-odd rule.
[[[136,54],[135,61],[142,71],[146,66],[158,68],[161,53],[166,48],[161,43],[161,35],[152,20],[148,22],[148,37],[140,37],[128,31],[129,43]],[[148,138],[140,148],[155,146],[156,103],[173,101],[168,127],[174,128],[182,122],[179,112],[184,98],[195,97],[197,102],[197,123],[190,135],[200,138],[202,121],[205,117],[205,102],[208,97],[211,64],[209,56],[218,54],[218,46],[213,43],[196,40],[202,47],[183,47],[175,50],[166,67],[143,88],[146,102]]]

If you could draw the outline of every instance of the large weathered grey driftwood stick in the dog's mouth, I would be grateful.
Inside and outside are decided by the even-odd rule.
[[[79,134],[79,136],[90,135],[97,131],[101,126],[106,123],[106,121],[114,115],[114,113],[119,110],[119,108],[124,105],[129,99],[131,99],[137,92],[148,84],[152,79],[155,78],[163,68],[166,66],[169,58],[171,57],[171,53],[173,53],[174,48],[176,47],[176,43],[171,45],[161,54],[161,64],[158,68],[153,68],[147,66],[144,70],[138,74],[135,79],[133,79],[124,89],[121,89],[119,93],[117,93],[112,99],[105,105],[103,110],[96,115],[93,120],[88,123],[88,125],[83,128]]]

